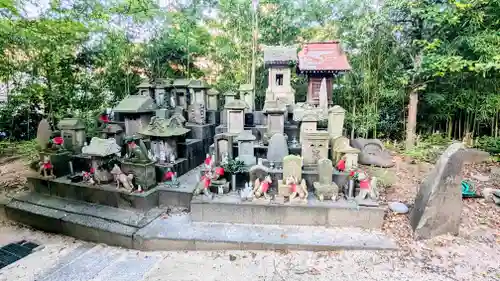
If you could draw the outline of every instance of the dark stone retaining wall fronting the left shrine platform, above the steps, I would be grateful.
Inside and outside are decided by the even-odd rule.
[[[142,193],[132,193],[125,189],[117,189],[114,184],[94,186],[85,183],[72,183],[66,177],[53,180],[28,177],[27,182],[32,191],[40,194],[115,208],[149,210],[158,206],[158,194],[155,188]]]

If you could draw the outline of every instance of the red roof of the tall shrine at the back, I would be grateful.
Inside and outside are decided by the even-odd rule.
[[[299,52],[300,72],[342,72],[351,70],[340,41],[307,43]]]

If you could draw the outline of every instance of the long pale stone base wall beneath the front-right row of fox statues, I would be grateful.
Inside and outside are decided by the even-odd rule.
[[[196,197],[191,201],[191,217],[195,222],[380,229],[384,213],[383,208],[362,207],[345,200],[320,202],[312,194],[308,204],[248,202],[237,196],[216,196],[212,200]]]

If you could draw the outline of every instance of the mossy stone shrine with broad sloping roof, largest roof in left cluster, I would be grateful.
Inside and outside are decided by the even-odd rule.
[[[146,129],[157,106],[149,96],[129,95],[113,109],[125,120],[125,134],[132,136]]]

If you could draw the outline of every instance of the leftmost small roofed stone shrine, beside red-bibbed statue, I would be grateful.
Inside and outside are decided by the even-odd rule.
[[[85,124],[78,118],[64,118],[57,128],[61,130],[64,148],[79,153],[85,143]]]

